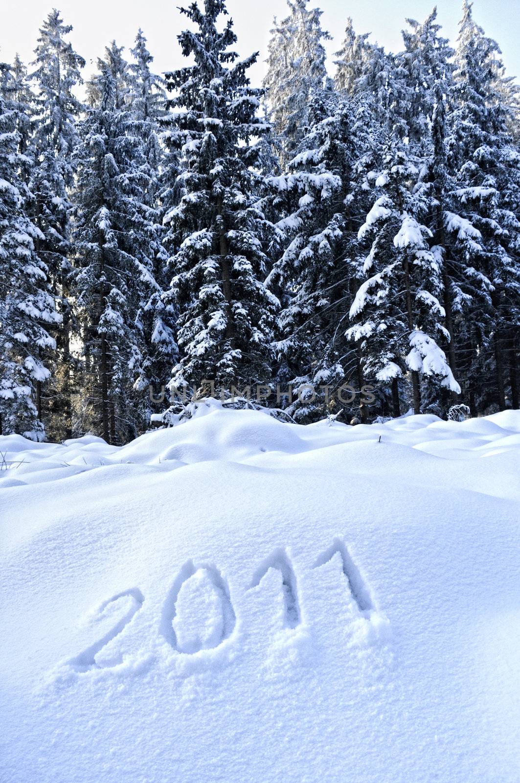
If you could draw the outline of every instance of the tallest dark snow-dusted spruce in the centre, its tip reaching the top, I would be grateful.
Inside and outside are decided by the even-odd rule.
[[[262,90],[247,78],[258,55],[237,62],[229,49],[237,40],[233,23],[222,31],[216,26],[227,13],[223,0],[182,13],[197,31],[179,35],[194,65],[166,74],[179,110],[172,143],[185,169],[179,206],[165,218],[179,247],[170,259],[181,353],[172,384],[263,384],[271,373],[277,301],[261,282],[269,223],[258,206],[262,177],[253,167],[265,123],[256,117]]]

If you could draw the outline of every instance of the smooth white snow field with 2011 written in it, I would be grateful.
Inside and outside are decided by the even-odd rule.
[[[520,780],[518,411],[0,452],[0,780]]]

